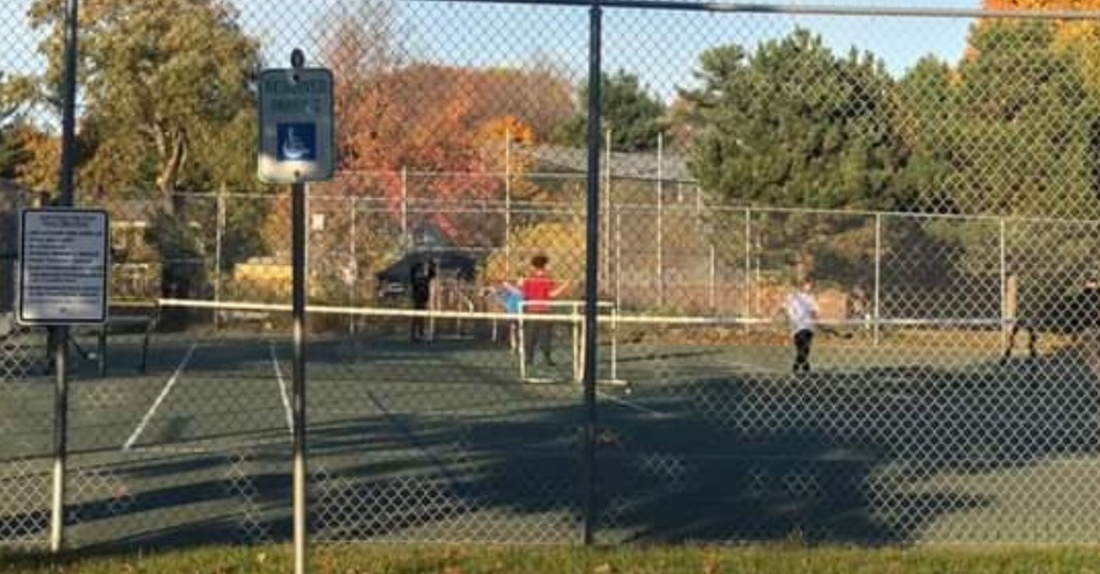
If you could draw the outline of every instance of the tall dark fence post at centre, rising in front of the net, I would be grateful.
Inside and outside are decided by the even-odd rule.
[[[585,249],[584,283],[584,532],[583,542],[591,545],[596,525],[596,301],[600,298],[600,79],[602,11],[598,4],[588,9],[588,201],[587,245]],[[609,142],[608,142],[609,143]],[[610,146],[608,146],[610,150]],[[609,203],[608,203],[609,205]],[[610,213],[608,212],[608,216]]]

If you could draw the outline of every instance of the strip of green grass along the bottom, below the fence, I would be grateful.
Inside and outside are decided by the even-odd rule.
[[[290,549],[204,548],[155,554],[48,558],[0,555],[3,573],[287,573]],[[1100,573],[1093,547],[806,549],[798,545],[559,547],[328,545],[314,549],[317,574],[1034,574]]]

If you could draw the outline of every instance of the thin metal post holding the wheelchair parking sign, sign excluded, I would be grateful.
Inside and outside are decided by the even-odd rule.
[[[295,49],[290,60],[301,67],[305,58]],[[306,185],[290,186],[290,316],[294,321],[292,404],[294,409],[294,572],[306,574],[308,526],[306,522]]]

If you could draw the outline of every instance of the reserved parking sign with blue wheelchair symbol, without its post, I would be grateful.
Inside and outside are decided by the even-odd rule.
[[[260,74],[260,164],[267,184],[332,179],[336,147],[332,73],[326,68]]]

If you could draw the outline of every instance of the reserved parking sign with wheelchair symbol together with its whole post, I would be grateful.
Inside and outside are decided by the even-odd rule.
[[[332,73],[306,68],[300,49],[290,69],[260,74],[260,158],[257,176],[267,184],[290,184],[292,320],[294,321],[292,402],[294,428],[294,571],[308,567],[306,520],[306,181],[331,179],[334,172]]]

